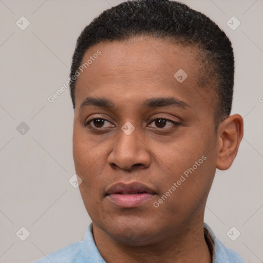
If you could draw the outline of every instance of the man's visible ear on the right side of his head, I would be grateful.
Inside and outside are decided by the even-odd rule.
[[[239,114],[229,116],[218,126],[216,167],[227,170],[233,163],[243,137],[243,118]]]

